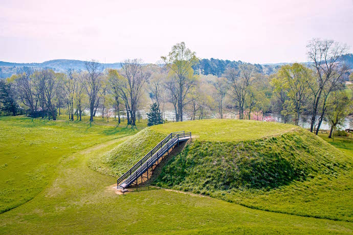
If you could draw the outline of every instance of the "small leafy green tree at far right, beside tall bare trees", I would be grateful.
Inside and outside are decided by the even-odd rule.
[[[351,111],[352,102],[344,90],[334,91],[327,101],[327,120],[331,125],[328,138],[332,137],[337,125],[342,125]]]

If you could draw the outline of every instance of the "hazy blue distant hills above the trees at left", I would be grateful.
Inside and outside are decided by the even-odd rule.
[[[100,63],[104,68],[121,68],[120,63]],[[42,63],[12,63],[0,61],[0,78],[7,78],[16,74],[17,69],[21,67],[34,67],[34,68],[51,68],[55,72],[64,72],[68,68],[75,70],[86,70],[85,61],[82,60],[49,60]]]

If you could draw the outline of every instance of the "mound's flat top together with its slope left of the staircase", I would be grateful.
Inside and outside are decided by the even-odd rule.
[[[198,120],[157,125],[122,139],[124,142],[119,142],[112,151],[91,159],[89,167],[103,174],[119,177],[174,131],[191,131],[192,137],[200,140],[232,141],[276,135],[294,128],[292,125],[244,120]]]

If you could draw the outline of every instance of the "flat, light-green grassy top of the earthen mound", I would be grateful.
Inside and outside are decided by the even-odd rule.
[[[191,131],[192,137],[208,141],[257,139],[281,134],[297,127],[274,122],[210,119],[152,126],[151,130],[169,134],[173,131]]]

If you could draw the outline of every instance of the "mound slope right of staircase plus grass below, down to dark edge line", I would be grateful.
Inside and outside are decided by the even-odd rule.
[[[342,141],[352,148],[350,139]],[[251,208],[352,222],[348,154],[303,129],[241,142],[196,140],[155,183]]]

